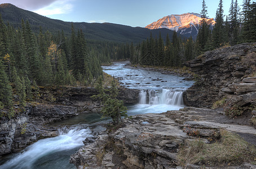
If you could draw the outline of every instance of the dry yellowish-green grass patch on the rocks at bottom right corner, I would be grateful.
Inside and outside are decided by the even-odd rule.
[[[256,148],[239,135],[221,130],[220,139],[213,144],[195,140],[183,145],[178,152],[178,162],[205,166],[236,166],[243,162],[254,162]]]

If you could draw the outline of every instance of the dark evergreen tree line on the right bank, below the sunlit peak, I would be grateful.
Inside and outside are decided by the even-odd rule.
[[[232,0],[226,21],[223,12],[223,2],[220,0],[215,16],[216,23],[211,30],[206,23],[208,11],[203,0],[202,21],[195,41],[192,37],[182,39],[175,32],[171,41],[169,35],[166,36],[165,43],[161,34],[158,38],[151,35],[136,46],[133,43],[126,46],[123,52],[130,55],[132,64],[179,68],[184,61],[192,60],[205,51],[238,43],[256,42],[255,2],[244,0],[241,10],[237,0]]]

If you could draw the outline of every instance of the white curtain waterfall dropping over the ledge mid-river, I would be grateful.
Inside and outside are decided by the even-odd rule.
[[[141,90],[139,93],[139,104],[168,104],[183,105],[183,91],[171,91],[163,89],[161,92],[155,90]]]

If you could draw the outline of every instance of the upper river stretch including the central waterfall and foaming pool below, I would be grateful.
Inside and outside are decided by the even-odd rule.
[[[179,110],[184,107],[183,91],[193,84],[193,81],[184,81],[184,77],[133,69],[125,66],[125,63],[103,66],[103,69],[105,73],[118,78],[122,86],[140,90],[139,103],[127,106],[128,115]]]

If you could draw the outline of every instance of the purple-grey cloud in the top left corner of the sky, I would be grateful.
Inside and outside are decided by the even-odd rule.
[[[11,3],[19,8],[23,8],[24,10],[38,10],[40,8],[51,5],[58,0],[1,0],[0,3]]]

